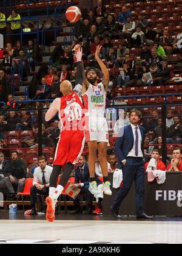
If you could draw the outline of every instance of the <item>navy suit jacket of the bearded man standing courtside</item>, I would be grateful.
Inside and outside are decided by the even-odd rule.
[[[144,137],[145,137],[145,130],[144,127],[139,126],[140,132],[141,132],[141,151],[143,152],[144,157]],[[125,126],[120,129],[120,132],[118,134],[118,138],[115,143],[115,151],[118,155],[118,169],[121,169],[123,166],[122,161],[126,159],[127,154],[129,151],[133,148],[133,132],[132,127],[129,124],[128,126]]]

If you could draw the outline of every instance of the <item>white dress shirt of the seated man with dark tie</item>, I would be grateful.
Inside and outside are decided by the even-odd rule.
[[[44,176],[45,176],[45,184],[49,183],[50,180],[50,174],[52,173],[52,166],[49,165],[45,165],[45,169],[44,169]],[[38,184],[38,182],[40,184],[42,184],[42,169],[40,168],[40,166],[38,166],[37,168],[35,168],[35,171],[33,173],[33,186],[35,184]]]

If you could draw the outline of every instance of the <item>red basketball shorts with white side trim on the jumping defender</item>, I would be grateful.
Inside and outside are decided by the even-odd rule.
[[[84,149],[84,132],[80,130],[63,130],[55,151],[53,165],[65,166],[67,163],[75,165]]]

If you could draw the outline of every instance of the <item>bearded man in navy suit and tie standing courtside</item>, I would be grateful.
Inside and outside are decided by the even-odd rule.
[[[135,180],[136,218],[151,219],[144,213],[144,136],[145,129],[138,126],[140,123],[140,111],[133,108],[130,111],[130,124],[120,129],[115,143],[115,151],[118,155],[118,169],[123,170],[123,185],[119,189],[110,210],[113,216],[121,218],[118,214],[121,202],[129,192],[133,180]]]

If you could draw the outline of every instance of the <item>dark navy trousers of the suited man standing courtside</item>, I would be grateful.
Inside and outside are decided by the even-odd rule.
[[[144,212],[144,171],[143,159],[127,157],[126,164],[123,166],[123,185],[112,204],[114,210],[119,210],[121,202],[135,180],[136,214]]]

